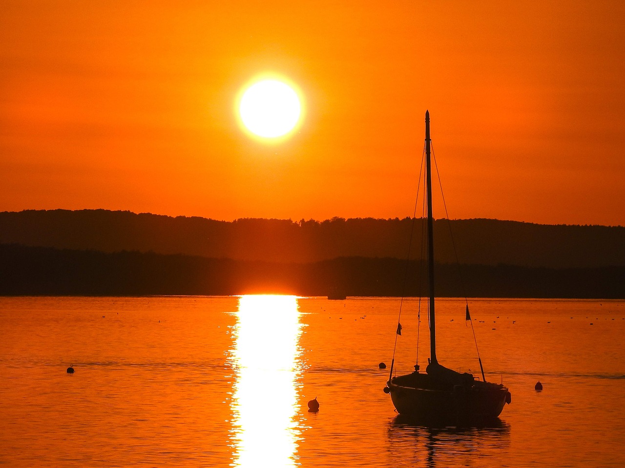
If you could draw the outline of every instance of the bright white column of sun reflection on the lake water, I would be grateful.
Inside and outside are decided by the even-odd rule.
[[[296,296],[241,296],[234,326],[234,466],[296,466],[300,372]]]

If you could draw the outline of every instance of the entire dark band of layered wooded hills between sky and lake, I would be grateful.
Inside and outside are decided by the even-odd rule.
[[[4,212],[0,294],[417,296],[422,224]],[[434,241],[440,296],[625,298],[623,227],[436,220]]]

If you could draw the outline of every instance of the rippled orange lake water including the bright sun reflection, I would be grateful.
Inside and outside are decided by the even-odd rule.
[[[625,464],[625,301],[469,300],[486,377],[512,403],[464,429],[408,424],[382,392],[399,303],[0,298],[0,465]],[[416,359],[418,305],[402,304],[399,373]],[[426,311],[418,331],[424,368]],[[437,358],[479,375],[464,300],[437,301]]]

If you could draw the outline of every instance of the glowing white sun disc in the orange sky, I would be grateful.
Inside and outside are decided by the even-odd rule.
[[[297,93],[286,83],[266,79],[245,90],[239,104],[243,125],[254,135],[277,138],[294,129],[301,114]]]

